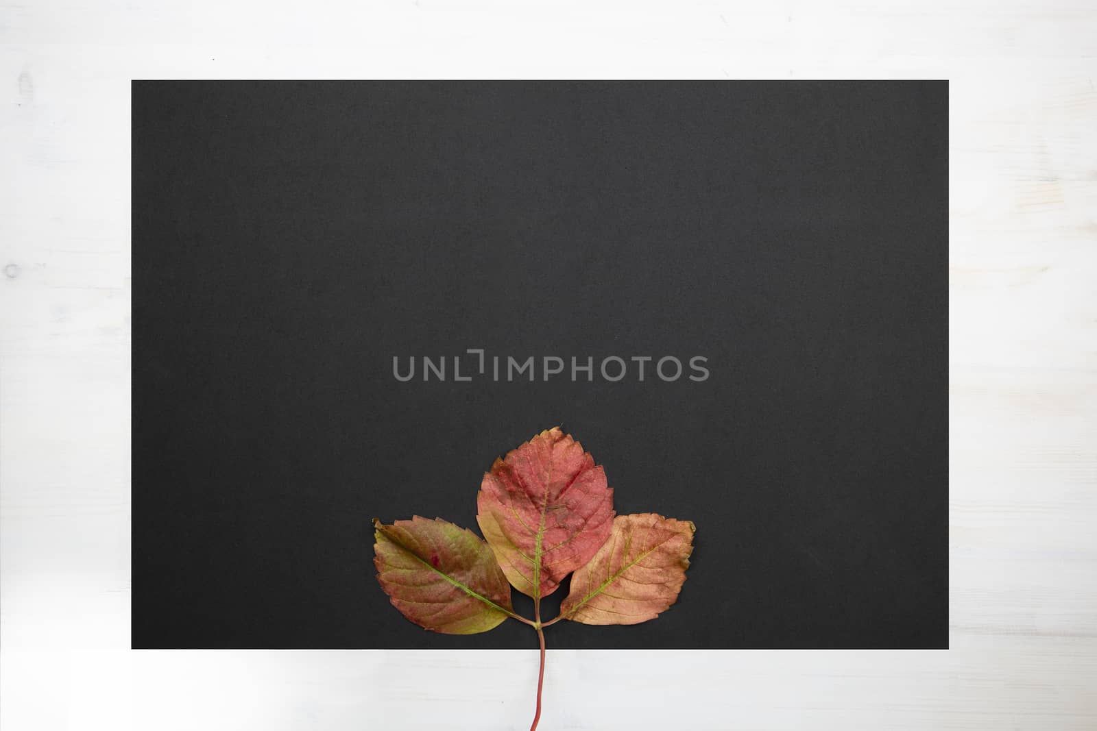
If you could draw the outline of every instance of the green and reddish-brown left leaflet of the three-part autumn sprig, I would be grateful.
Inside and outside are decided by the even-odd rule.
[[[415,624],[445,635],[486,632],[509,616],[510,586],[487,544],[441,518],[373,522],[377,581]]]

